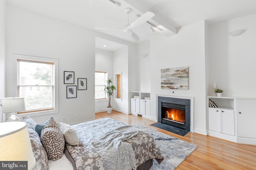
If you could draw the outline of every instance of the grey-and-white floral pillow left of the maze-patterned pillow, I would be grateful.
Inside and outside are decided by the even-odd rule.
[[[30,137],[31,147],[34,158],[36,159],[36,165],[33,170],[48,170],[47,153],[41,143],[38,133],[36,133],[34,130],[36,122],[27,116],[23,116],[22,121],[26,122],[28,125],[28,134]]]

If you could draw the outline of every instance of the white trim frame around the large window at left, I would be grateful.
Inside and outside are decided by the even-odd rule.
[[[34,60],[34,61],[43,61],[43,62],[54,62],[54,84],[55,84],[55,90],[54,90],[54,110],[48,110],[48,111],[37,111],[37,112],[31,112],[31,113],[22,113],[18,114],[17,116],[21,118],[22,116],[40,116],[40,115],[48,115],[48,114],[54,114],[58,113],[58,59],[51,59],[46,57],[36,57],[36,56],[30,56],[30,55],[20,55],[20,54],[12,54],[14,56],[14,71],[13,71],[13,92],[16,94],[16,97],[18,96],[17,92],[17,59],[24,59],[24,60]]]

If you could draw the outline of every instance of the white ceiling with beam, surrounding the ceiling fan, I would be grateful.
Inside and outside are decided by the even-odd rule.
[[[214,23],[256,13],[256,0],[117,1],[121,6],[116,6],[110,0],[6,0],[9,4],[134,43],[136,42],[128,33],[94,28],[123,28],[127,24],[124,12],[127,7],[132,8],[130,23],[137,19],[136,14],[153,12],[155,16],[149,21],[164,29],[156,29],[154,34],[164,32],[164,35],[175,35],[178,27],[197,21],[207,20]],[[153,34],[148,23],[132,30],[140,37],[139,42],[146,41]]]

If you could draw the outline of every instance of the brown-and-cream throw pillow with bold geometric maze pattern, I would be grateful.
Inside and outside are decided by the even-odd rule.
[[[49,160],[56,161],[62,158],[65,140],[53,118],[50,118],[46,126],[42,129],[41,141]]]

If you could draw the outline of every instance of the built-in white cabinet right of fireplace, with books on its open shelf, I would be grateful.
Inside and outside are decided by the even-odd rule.
[[[218,107],[207,109],[208,135],[256,145],[256,98],[208,96],[209,99]]]

